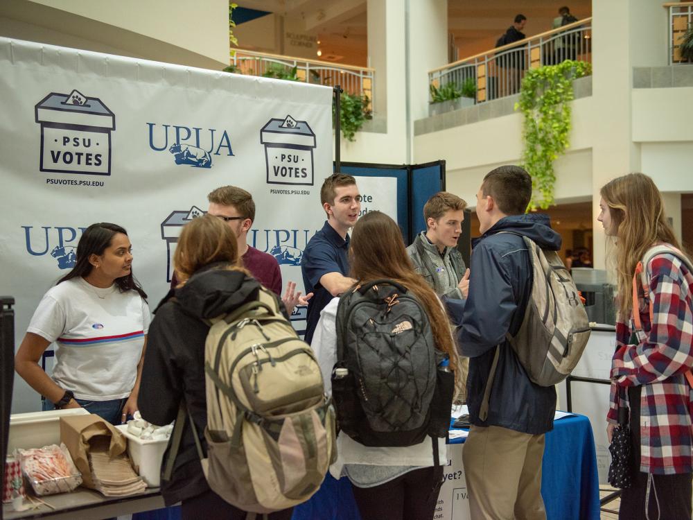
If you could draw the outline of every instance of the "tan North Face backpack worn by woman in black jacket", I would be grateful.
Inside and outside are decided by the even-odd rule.
[[[335,416],[315,354],[274,293],[261,288],[258,300],[211,320],[204,358],[207,458],[182,403],[164,479],[187,414],[204,475],[222,499],[256,513],[308,500],[337,456]]]

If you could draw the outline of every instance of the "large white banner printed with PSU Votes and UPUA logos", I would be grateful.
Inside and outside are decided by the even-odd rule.
[[[226,184],[253,194],[249,243],[302,288],[332,172],[330,87],[0,38],[0,93],[0,293],[17,300],[17,346],[91,223],[128,230],[154,309],[180,228]],[[12,411],[39,408],[15,378]]]

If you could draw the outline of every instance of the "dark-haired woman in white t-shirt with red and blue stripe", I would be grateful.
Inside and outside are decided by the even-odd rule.
[[[44,410],[81,406],[112,424],[137,410],[146,297],[132,276],[125,229],[87,227],[74,268],[44,295],[15,356],[17,373],[46,397]],[[39,361],[51,343],[56,361],[48,376]]]

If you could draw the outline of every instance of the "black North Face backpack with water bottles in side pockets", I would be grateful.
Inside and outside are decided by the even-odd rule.
[[[342,295],[336,327],[338,427],[366,446],[411,446],[430,435],[438,464],[455,380],[438,370],[444,354],[421,302],[395,281],[372,281]]]

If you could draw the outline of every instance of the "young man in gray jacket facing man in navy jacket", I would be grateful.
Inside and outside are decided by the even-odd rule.
[[[414,269],[443,300],[464,300],[469,287],[469,270],[457,250],[467,203],[447,191],[439,191],[423,206],[426,231],[407,248]],[[454,320],[453,320],[454,321]],[[456,323],[453,323],[456,324]],[[466,401],[469,360],[459,357],[462,388],[457,399]]]

